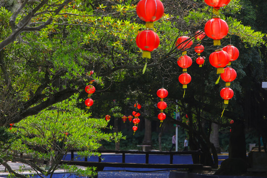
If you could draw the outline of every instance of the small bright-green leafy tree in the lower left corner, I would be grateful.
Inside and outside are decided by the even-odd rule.
[[[33,174],[44,178],[52,175],[58,168],[71,174],[94,176],[95,168],[78,169],[76,166],[60,165],[71,150],[77,150],[79,157],[100,156],[97,149],[101,140],[118,142],[121,133],[106,134],[108,122],[104,119],[90,118],[90,113],[78,109],[78,94],[54,104],[38,115],[28,117],[7,129],[14,134],[12,141],[5,143],[5,152],[1,150],[0,163],[14,177],[27,176],[16,173],[8,165],[12,159],[31,166]],[[112,127],[110,127],[111,129]],[[21,153],[24,157],[21,157]],[[30,159],[27,159],[30,156]],[[44,162],[47,162],[44,167]]]

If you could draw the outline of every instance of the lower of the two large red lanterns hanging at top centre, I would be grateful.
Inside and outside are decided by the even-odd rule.
[[[151,58],[150,52],[159,46],[159,36],[152,30],[144,30],[136,37],[136,45],[143,50],[143,57]]]

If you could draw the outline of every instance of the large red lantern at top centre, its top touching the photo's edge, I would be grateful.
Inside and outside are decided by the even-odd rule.
[[[153,28],[153,22],[164,14],[164,6],[160,0],[140,0],[136,5],[136,13],[146,22],[146,28]]]

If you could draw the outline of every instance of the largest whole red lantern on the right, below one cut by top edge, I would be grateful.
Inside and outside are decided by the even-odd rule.
[[[205,33],[208,37],[213,39],[213,45],[221,45],[221,39],[228,34],[228,25],[219,17],[212,18],[205,24]]]

